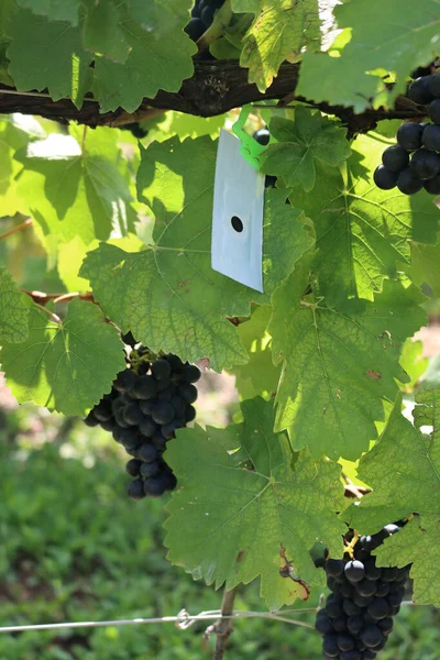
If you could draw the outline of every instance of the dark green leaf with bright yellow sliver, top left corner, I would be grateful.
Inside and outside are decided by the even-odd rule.
[[[80,29],[23,9],[12,19],[11,36],[7,54],[16,89],[47,88],[54,101],[70,97],[80,108],[91,72],[91,55],[82,48]]]

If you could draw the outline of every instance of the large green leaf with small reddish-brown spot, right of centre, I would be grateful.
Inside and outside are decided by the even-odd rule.
[[[294,450],[355,460],[376,438],[383,400],[394,400],[402,343],[425,323],[416,287],[385,282],[374,301],[352,299],[342,309],[301,300],[304,277],[294,272],[273,295],[268,328],[283,361],[276,428],[288,429]],[[308,300],[308,298],[311,298]]]

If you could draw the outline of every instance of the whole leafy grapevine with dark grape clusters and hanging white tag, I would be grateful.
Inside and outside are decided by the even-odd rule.
[[[254,580],[381,658],[403,598],[440,607],[436,1],[3,4],[13,396],[124,450],[167,560],[224,588],[216,659]]]

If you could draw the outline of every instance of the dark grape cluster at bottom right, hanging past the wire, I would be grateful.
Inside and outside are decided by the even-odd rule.
[[[316,619],[323,636],[323,658],[372,660],[386,645],[393,616],[405,595],[409,566],[381,569],[371,552],[399,530],[398,525],[387,525],[358,539],[353,557],[345,553],[343,559],[326,559],[327,585],[332,593]],[[352,532],[345,538],[350,536]]]

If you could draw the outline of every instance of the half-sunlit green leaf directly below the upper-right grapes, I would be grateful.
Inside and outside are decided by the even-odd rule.
[[[316,161],[314,195],[295,188],[292,204],[314,221],[317,257],[312,273],[331,305],[346,297],[373,298],[385,277],[396,277],[396,263],[410,261],[410,241],[436,243],[440,211],[424,190],[402,195],[380,190],[373,172],[392,142],[375,135],[356,139],[348,170]]]

